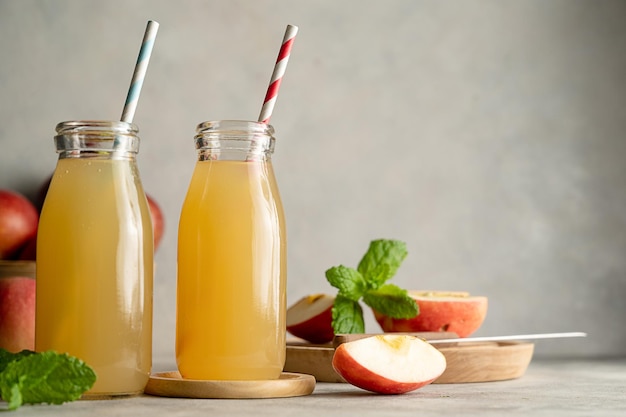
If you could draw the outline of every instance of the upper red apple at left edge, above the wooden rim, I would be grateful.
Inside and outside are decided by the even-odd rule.
[[[0,190],[0,259],[15,259],[37,234],[39,213],[26,197]]]

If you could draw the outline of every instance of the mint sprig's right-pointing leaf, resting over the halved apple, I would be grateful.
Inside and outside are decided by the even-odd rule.
[[[374,310],[394,319],[410,319],[419,313],[419,307],[406,290],[386,284],[363,295],[363,302]]]

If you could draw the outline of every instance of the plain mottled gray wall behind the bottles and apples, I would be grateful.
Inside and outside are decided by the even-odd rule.
[[[57,122],[120,117],[159,21],[135,122],[167,221],[155,356],[173,361],[195,126],[256,119],[295,24],[272,118],[288,303],[333,292],[327,268],[396,238],[398,285],[489,297],[479,335],[579,330],[536,355],[624,355],[625,18],[604,0],[0,0],[0,188],[35,196]]]

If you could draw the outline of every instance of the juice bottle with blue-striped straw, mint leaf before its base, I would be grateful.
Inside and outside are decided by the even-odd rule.
[[[35,349],[77,356],[86,396],[141,393],[152,365],[153,240],[137,128],[57,125],[59,153],[37,237]]]

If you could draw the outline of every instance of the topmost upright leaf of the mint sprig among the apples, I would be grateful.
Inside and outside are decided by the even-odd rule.
[[[357,270],[365,278],[368,288],[376,289],[396,274],[407,254],[404,242],[389,239],[373,240],[359,262]]]

